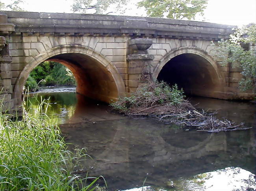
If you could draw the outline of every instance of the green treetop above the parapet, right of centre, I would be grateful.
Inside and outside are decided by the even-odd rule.
[[[148,16],[191,20],[197,13],[203,15],[207,3],[208,0],[142,0],[137,5],[145,7]]]

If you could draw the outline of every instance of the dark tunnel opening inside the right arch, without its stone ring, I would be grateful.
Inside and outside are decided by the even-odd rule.
[[[201,55],[175,55],[158,70],[158,81],[177,84],[187,95],[220,97],[222,80],[212,63]]]

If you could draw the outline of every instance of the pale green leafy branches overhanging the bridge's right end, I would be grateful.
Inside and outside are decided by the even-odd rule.
[[[256,43],[256,24],[234,29],[229,40],[221,40],[213,55],[219,57],[222,65],[232,63],[233,67],[241,67],[244,78],[239,82],[240,89],[252,89],[256,78],[256,50],[245,49],[247,43]]]

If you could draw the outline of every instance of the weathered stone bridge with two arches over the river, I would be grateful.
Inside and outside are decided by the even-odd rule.
[[[46,60],[69,67],[82,95],[109,102],[136,91],[145,78],[178,84],[192,95],[250,99],[239,68],[222,66],[212,42],[230,25],[162,18],[67,13],[0,12],[0,77],[7,109]]]

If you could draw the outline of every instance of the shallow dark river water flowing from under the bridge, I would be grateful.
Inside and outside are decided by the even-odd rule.
[[[243,191],[255,190],[256,107],[250,102],[190,98],[198,108],[217,111],[243,131],[197,132],[151,118],[113,114],[107,104],[77,95],[75,88],[48,87],[48,115],[58,118],[67,143],[85,148],[92,159],[79,174],[104,176],[109,191]],[[32,97],[33,95],[30,94]],[[41,99],[41,98],[40,98]],[[27,107],[35,107],[30,99]],[[98,181],[104,186],[104,181]]]

